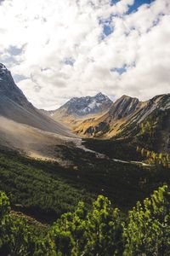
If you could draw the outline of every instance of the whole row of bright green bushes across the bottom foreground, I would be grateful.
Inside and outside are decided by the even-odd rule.
[[[26,220],[13,218],[0,192],[0,255],[169,255],[170,193],[163,186],[137,203],[127,218],[99,195],[90,210],[80,202],[37,237]]]

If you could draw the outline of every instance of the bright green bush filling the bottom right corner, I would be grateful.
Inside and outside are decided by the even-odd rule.
[[[170,192],[159,188],[129,211],[124,255],[170,255]]]

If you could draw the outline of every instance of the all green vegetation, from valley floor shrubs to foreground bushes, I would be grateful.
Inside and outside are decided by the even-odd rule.
[[[91,142],[107,157],[60,146],[67,167],[0,149],[0,255],[168,255],[168,166],[111,160],[146,157],[128,141]]]

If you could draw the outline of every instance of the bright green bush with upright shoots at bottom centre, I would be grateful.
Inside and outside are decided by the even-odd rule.
[[[91,211],[79,203],[76,212],[64,214],[54,224],[50,236],[60,255],[121,255],[120,212],[99,195]]]

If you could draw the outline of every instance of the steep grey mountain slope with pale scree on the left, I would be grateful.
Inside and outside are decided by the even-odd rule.
[[[61,160],[57,153],[59,148],[78,142],[65,125],[28,102],[14,84],[11,73],[0,64],[0,148],[12,148],[33,158],[56,160],[65,165],[66,160]]]

